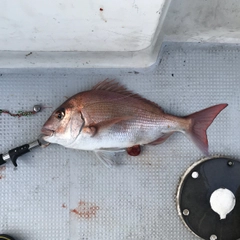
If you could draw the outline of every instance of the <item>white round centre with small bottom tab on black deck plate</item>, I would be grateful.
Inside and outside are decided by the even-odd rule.
[[[215,190],[210,197],[211,208],[220,216],[220,220],[226,218],[227,214],[235,207],[235,203],[234,194],[226,188]]]

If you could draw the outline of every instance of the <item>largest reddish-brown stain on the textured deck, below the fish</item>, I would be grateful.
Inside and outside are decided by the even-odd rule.
[[[76,214],[79,218],[91,219],[96,217],[99,207],[94,203],[80,201],[78,206],[71,209],[71,213]]]

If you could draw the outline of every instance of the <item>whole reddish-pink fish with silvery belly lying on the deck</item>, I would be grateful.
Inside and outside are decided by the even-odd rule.
[[[206,130],[227,106],[222,103],[188,116],[174,116],[115,80],[106,79],[66,100],[41,132],[49,143],[94,151],[108,167],[116,164],[117,152],[138,155],[139,146],[162,144],[174,132],[185,134],[208,155]]]

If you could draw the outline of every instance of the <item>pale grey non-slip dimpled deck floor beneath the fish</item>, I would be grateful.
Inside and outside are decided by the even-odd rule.
[[[51,107],[30,117],[2,114],[0,151],[35,140],[67,97],[109,78],[179,116],[228,103],[208,129],[209,150],[240,158],[240,47],[168,43],[159,62],[143,72],[0,69],[0,109]],[[17,169],[10,162],[0,169],[0,232],[19,240],[197,240],[177,215],[175,194],[180,176],[201,157],[181,133],[138,157],[121,154],[113,169],[92,152],[34,149]]]

